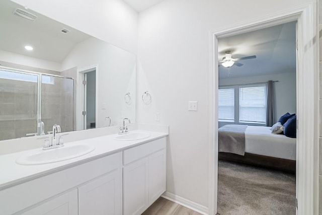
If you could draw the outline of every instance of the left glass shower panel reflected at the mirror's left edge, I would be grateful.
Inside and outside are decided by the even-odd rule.
[[[38,75],[0,69],[0,140],[37,131]]]

